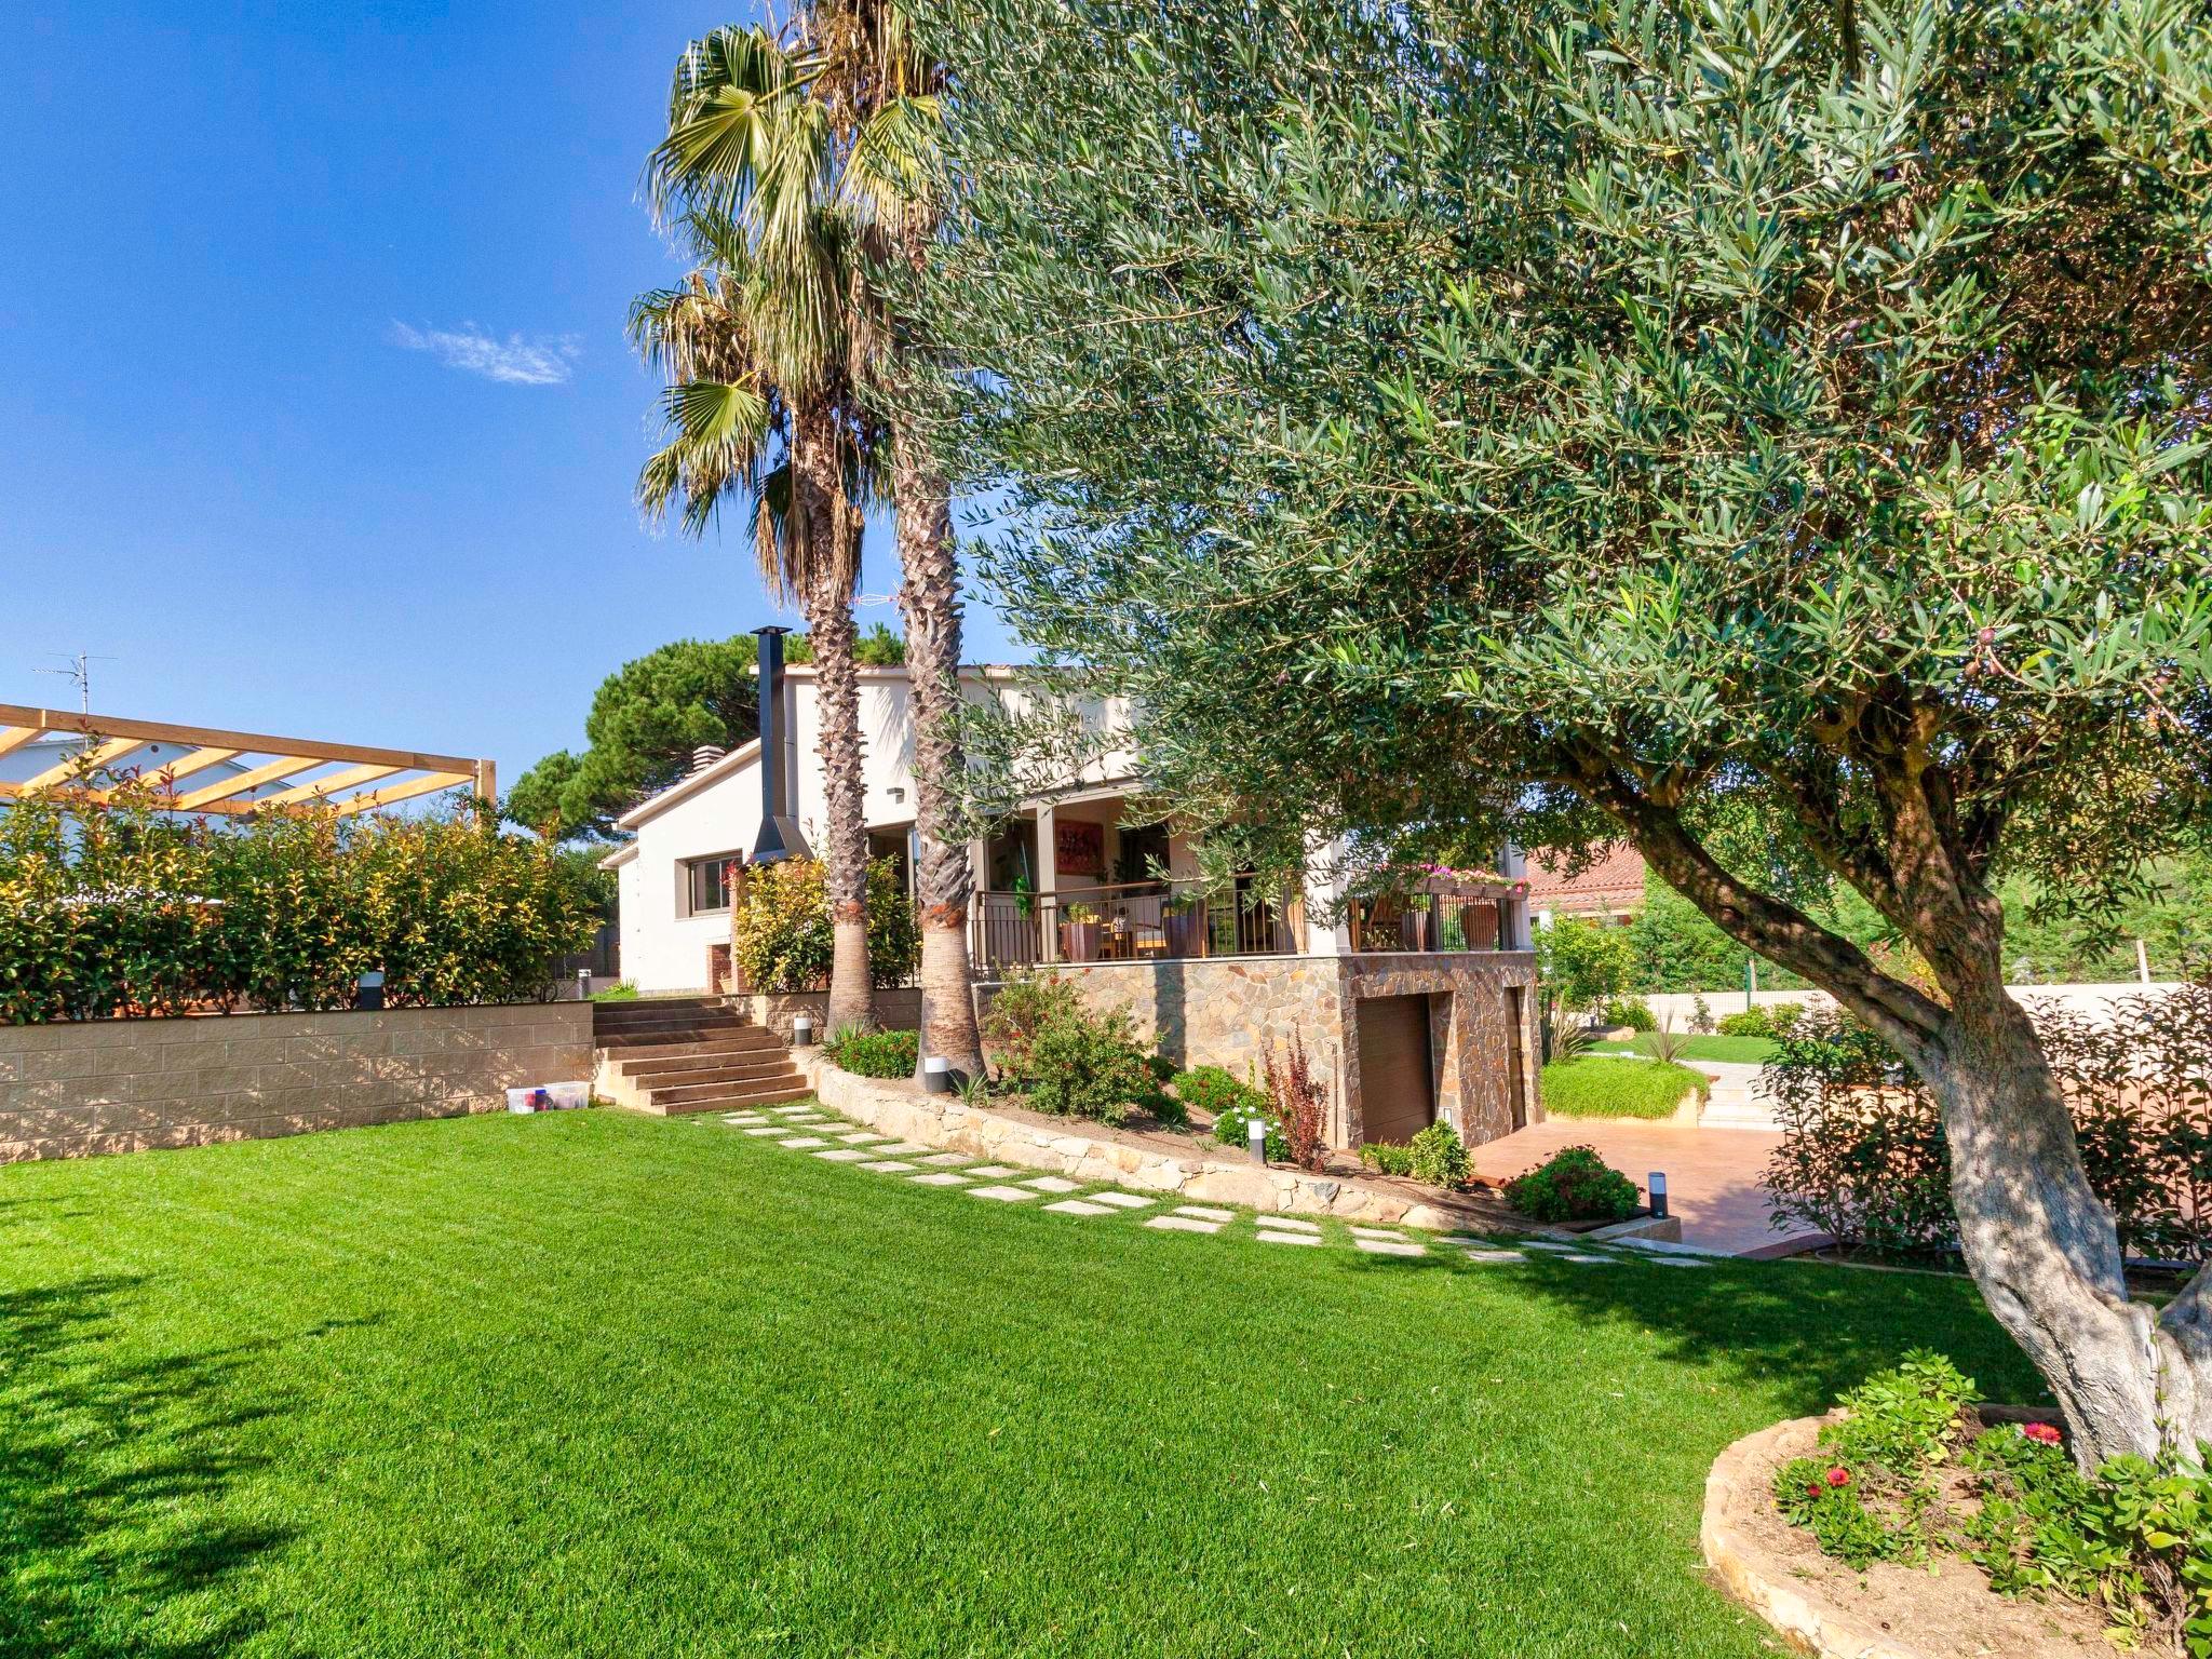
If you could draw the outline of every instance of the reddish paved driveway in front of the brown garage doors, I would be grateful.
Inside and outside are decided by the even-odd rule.
[[[1493,1186],[1546,1161],[1562,1146],[1595,1146],[1639,1188],[1650,1170],[1666,1170],[1668,1210],[1681,1217],[1681,1241],[1741,1256],[1792,1237],[1767,1225],[1767,1194],[1759,1186],[1759,1172],[1778,1141],[1774,1133],[1747,1128],[1553,1117],[1473,1146],[1469,1157],[1475,1175]]]

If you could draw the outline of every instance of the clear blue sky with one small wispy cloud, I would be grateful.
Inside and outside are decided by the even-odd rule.
[[[648,533],[630,296],[672,4],[0,18],[0,701],[491,754],[772,619]],[[865,577],[891,591],[889,535]],[[891,606],[865,608],[863,624]],[[971,659],[1022,655],[969,606]]]

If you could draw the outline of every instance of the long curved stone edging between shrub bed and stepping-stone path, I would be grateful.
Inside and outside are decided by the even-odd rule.
[[[814,1095],[830,1110],[885,1135],[927,1141],[949,1152],[1020,1164],[1046,1175],[1064,1175],[1071,1181],[1172,1192],[1208,1203],[1237,1203],[1248,1210],[1387,1221],[1431,1232],[1449,1232],[1460,1225],[1455,1217],[1407,1199],[1402,1192],[1369,1188],[1334,1175],[1283,1170],[1272,1164],[1263,1168],[1250,1161],[1175,1157],[1146,1146],[1097,1139],[1073,1126],[1024,1124],[962,1106],[958,1095],[929,1095],[905,1079],[858,1077],[832,1066],[821,1048],[794,1051],[794,1060],[814,1084]]]

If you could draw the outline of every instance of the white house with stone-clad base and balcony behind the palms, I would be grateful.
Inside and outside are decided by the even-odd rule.
[[[619,874],[624,973],[644,993],[726,984],[730,896],[743,867],[821,841],[814,670],[763,639],[763,730],[622,816],[635,836],[602,863]],[[962,668],[975,701],[1022,703],[1020,670]],[[1321,865],[1303,891],[1250,883],[1206,894],[1190,843],[1137,807],[1126,708],[1075,710],[1099,759],[1064,787],[1009,803],[969,845],[969,942],[978,1000],[1015,969],[1068,973],[1097,1006],[1126,1006],[1177,1064],[1256,1075],[1305,1042],[1329,1079],[1329,1137],[1402,1141],[1438,1117],[1469,1141],[1542,1115],[1535,956],[1517,852],[1500,874],[1438,874],[1398,900],[1338,902]],[[911,869],[914,717],[905,668],[860,670],[872,852]],[[763,748],[770,765],[763,768]],[[1155,874],[1157,872],[1157,874]]]

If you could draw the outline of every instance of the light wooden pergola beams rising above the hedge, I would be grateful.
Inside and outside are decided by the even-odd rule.
[[[157,757],[148,757],[139,779],[153,787],[155,805],[170,812],[246,814],[327,805],[341,816],[352,816],[465,785],[484,801],[498,801],[498,774],[491,761],[460,754],[378,750],[310,737],[226,732],[212,726],[0,703],[0,757],[49,734],[82,739],[82,748],[38,776],[0,783],[0,803],[31,790],[62,790],[86,801],[106,799],[106,790],[88,787],[82,779],[148,745]],[[175,759],[159,757],[161,745],[175,748]],[[226,770],[212,783],[186,783],[223,763],[241,763],[243,770]],[[272,792],[254,799],[257,790]]]

